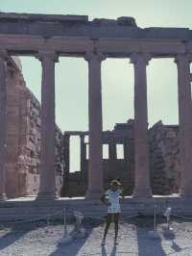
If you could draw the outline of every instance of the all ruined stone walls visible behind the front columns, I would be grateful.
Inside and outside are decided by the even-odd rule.
[[[19,59],[11,59],[8,66],[6,192],[9,197],[36,195],[39,187],[40,104],[26,87]],[[59,194],[62,190],[63,196],[84,196],[88,171],[88,142],[84,137],[88,132],[79,132],[81,171],[69,173],[70,135],[66,132],[62,139],[56,126],[56,187]],[[179,126],[163,125],[159,121],[149,129],[148,135],[153,193],[179,192]],[[134,187],[133,120],[116,124],[113,131],[103,132],[102,142],[108,144],[108,159],[103,159],[105,189],[111,179],[119,179],[125,193],[131,195]],[[117,159],[116,144],[123,144],[123,159]]]

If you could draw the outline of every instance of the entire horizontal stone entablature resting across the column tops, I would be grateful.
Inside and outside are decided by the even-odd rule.
[[[21,55],[34,55],[46,47],[71,57],[84,57],[85,52],[94,51],[108,58],[128,58],[132,52],[174,58],[192,53],[192,31],[142,29],[132,17],[88,21],[85,15],[0,13],[0,43],[12,54]]]

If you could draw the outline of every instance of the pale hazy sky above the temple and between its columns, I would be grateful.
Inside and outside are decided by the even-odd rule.
[[[142,28],[192,29],[191,10],[191,0],[0,0],[1,12],[86,14],[89,19],[133,16]],[[40,99],[39,62],[34,58],[22,58],[22,64],[28,87]],[[174,60],[152,60],[147,72],[150,126],[159,119],[165,124],[178,123]],[[104,130],[108,130],[116,122],[126,122],[133,117],[133,69],[129,59],[105,61],[102,82],[103,125]],[[87,64],[83,59],[60,58],[56,65],[56,116],[62,131],[87,130]]]

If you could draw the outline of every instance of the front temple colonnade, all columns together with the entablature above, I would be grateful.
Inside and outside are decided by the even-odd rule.
[[[180,164],[180,174],[177,174],[180,176],[180,182],[174,189],[178,191],[180,187],[180,201],[182,198],[192,197],[191,30],[188,28],[139,28],[132,17],[88,20],[86,15],[0,13],[0,197],[2,200],[6,196],[6,64],[12,55],[36,56],[42,66],[41,156],[37,200],[58,198],[55,168],[55,63],[59,61],[60,56],[84,58],[87,62],[89,157],[85,198],[98,199],[104,192],[103,140],[105,142],[113,138],[109,133],[103,136],[105,132],[103,133],[101,66],[107,58],[127,59],[134,70],[132,198],[149,201],[153,197],[155,188],[152,177],[155,180],[156,175],[153,174],[151,177],[151,173],[154,173],[151,167],[158,166],[159,163],[158,165],[156,163],[160,158],[170,170]],[[166,127],[167,135],[164,135],[162,130],[159,131],[162,138],[160,143],[158,136],[154,135],[152,130],[154,141],[150,141],[149,144],[147,65],[153,58],[163,58],[165,62],[166,58],[172,58],[178,70],[178,85],[176,85],[179,91],[179,131],[176,132],[179,133],[177,138],[180,147],[178,164],[176,164],[177,161],[173,164],[170,156],[167,156],[170,155],[169,150],[171,150],[171,155],[174,157],[172,127]],[[166,143],[163,136],[171,143],[168,146],[168,152],[167,149],[163,149],[163,142]],[[150,146],[152,152],[158,153],[158,158],[153,157]],[[111,154],[115,154],[112,152],[113,149],[110,148]],[[26,148],[23,150],[24,153],[21,151],[19,154],[25,155]],[[30,150],[32,150],[31,147],[28,154],[31,154]],[[150,157],[154,163],[151,162]],[[107,170],[108,164],[106,164]],[[167,167],[164,168],[164,164],[158,167],[163,169],[165,175]],[[165,177],[167,178],[166,175]],[[130,180],[132,180],[131,177],[125,176],[124,184],[129,183]],[[171,179],[169,183],[169,186],[172,186]]]

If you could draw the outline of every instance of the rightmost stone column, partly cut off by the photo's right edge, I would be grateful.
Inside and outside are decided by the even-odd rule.
[[[180,54],[178,66],[178,96],[180,121],[180,194],[192,196],[192,102],[190,62],[192,56]]]

